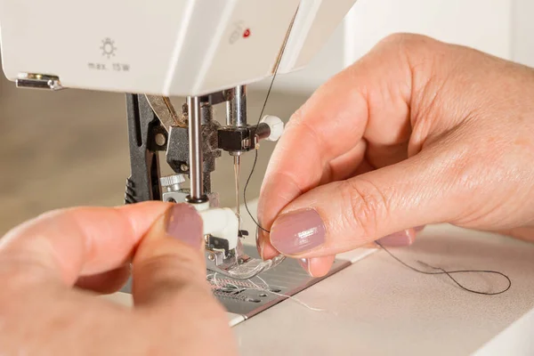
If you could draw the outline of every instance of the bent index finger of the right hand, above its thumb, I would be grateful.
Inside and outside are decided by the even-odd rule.
[[[388,163],[401,158],[399,151],[409,139],[412,89],[409,51],[403,38],[377,45],[321,86],[291,117],[260,193],[258,216],[266,230],[284,206],[324,181],[330,161],[352,150],[363,138],[382,154],[391,150]],[[260,234],[263,239],[269,239],[267,233]]]

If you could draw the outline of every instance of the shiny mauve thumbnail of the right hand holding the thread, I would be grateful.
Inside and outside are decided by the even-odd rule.
[[[271,227],[271,244],[284,255],[309,251],[325,242],[325,224],[313,209],[280,215]]]

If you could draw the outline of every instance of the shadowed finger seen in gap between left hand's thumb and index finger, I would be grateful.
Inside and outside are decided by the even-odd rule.
[[[130,266],[125,265],[112,271],[82,276],[76,282],[76,287],[92,290],[100,294],[115,293],[124,287],[130,277]]]

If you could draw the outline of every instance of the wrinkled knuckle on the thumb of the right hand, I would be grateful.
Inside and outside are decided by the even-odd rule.
[[[348,206],[344,211],[346,223],[362,231],[365,237],[376,238],[379,223],[386,219],[389,199],[376,184],[365,180],[345,181],[341,190]]]

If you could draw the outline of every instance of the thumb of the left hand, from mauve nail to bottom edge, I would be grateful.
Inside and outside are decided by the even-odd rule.
[[[173,204],[134,255],[134,305],[149,328],[143,337],[158,340],[164,354],[236,354],[226,313],[206,281],[203,245],[200,214]]]

